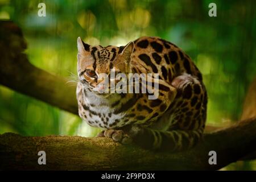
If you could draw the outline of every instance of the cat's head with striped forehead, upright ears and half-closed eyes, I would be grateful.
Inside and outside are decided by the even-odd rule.
[[[79,80],[85,89],[96,93],[99,97],[110,95],[110,73],[117,75],[131,73],[131,53],[134,50],[134,43],[130,42],[126,46],[90,46],[84,43],[81,38],[77,39],[77,73]],[[109,85],[105,84],[105,79],[109,79]],[[114,77],[114,83],[119,79]],[[112,80],[113,82],[113,80]],[[108,87],[108,88],[107,88]],[[108,90],[108,93],[102,93]]]

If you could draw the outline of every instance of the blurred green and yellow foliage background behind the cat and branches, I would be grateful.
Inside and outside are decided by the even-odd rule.
[[[40,2],[46,3],[46,17],[38,16]],[[208,15],[211,2],[217,5],[217,17]],[[76,74],[78,36],[102,46],[125,45],[144,35],[175,43],[203,73],[209,125],[240,119],[247,88],[256,76],[252,0],[0,0],[0,19],[22,28],[32,64],[64,77]],[[0,134],[93,137],[97,131],[77,115],[0,85]],[[238,162],[225,169],[256,169],[256,163]]]

